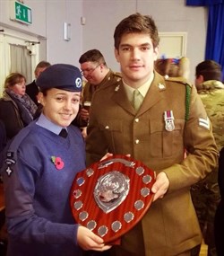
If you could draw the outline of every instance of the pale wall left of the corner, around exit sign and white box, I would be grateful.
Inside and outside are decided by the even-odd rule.
[[[32,24],[10,20],[11,0],[0,0],[0,29],[20,31],[40,41],[40,60],[78,65],[82,54],[82,0],[24,0],[32,9]],[[71,23],[71,40],[63,38],[64,22]]]

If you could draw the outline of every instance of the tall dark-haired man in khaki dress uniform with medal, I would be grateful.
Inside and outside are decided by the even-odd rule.
[[[149,211],[110,255],[191,255],[202,234],[190,187],[218,158],[211,123],[194,86],[154,71],[159,35],[150,16],[126,17],[114,39],[122,80],[92,97],[87,164],[107,152],[131,154],[157,177]],[[184,159],[185,148],[190,154]]]

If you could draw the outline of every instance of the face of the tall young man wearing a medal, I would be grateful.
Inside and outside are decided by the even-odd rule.
[[[153,48],[148,34],[128,33],[122,36],[119,49],[115,49],[126,84],[137,88],[147,82],[153,74],[158,47]]]

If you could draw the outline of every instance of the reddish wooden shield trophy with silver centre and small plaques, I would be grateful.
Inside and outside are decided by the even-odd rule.
[[[75,221],[113,243],[151,206],[155,172],[140,161],[113,155],[76,174],[70,193]]]

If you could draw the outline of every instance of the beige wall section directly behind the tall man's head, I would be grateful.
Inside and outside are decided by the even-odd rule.
[[[83,51],[99,49],[108,66],[118,70],[114,30],[125,16],[136,12],[151,15],[160,32],[187,32],[186,57],[190,58],[190,80],[194,82],[194,68],[204,58],[207,10],[185,6],[185,0],[83,0]]]

